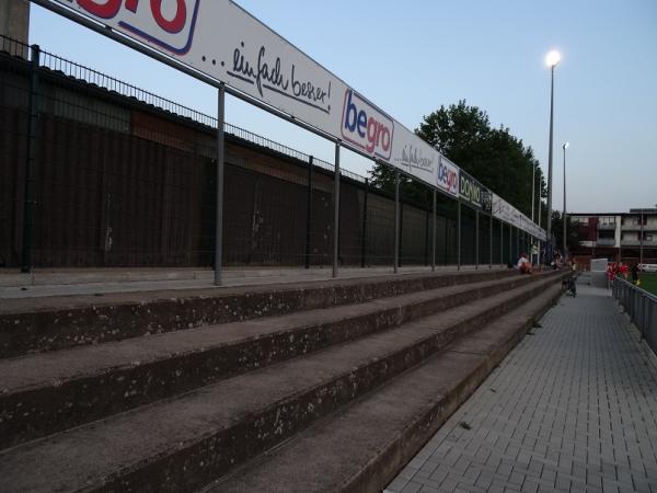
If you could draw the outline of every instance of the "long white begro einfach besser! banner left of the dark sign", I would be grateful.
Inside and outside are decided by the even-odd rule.
[[[454,164],[441,165],[438,151],[232,1],[49,1],[458,195]]]

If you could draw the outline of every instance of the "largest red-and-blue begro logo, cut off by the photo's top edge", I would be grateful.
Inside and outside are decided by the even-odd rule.
[[[73,0],[66,0],[73,3]],[[76,0],[80,9],[118,25],[175,55],[192,47],[200,0]]]

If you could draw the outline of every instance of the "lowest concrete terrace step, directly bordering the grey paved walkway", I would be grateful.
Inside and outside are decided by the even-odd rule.
[[[203,493],[380,492],[560,296],[545,289]]]

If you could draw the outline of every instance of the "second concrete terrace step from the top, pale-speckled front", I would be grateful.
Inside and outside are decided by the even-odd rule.
[[[360,305],[0,360],[0,448],[397,326],[550,275],[504,277]]]

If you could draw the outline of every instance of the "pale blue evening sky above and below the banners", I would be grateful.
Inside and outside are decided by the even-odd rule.
[[[208,1],[208,0],[204,0]],[[462,0],[238,3],[413,129],[461,99],[530,145],[548,172],[550,49],[555,71],[554,207],[657,204],[657,2]],[[216,90],[32,5],[30,43],[216,115]],[[228,123],[326,161],[333,145],[231,96]],[[342,165],[371,163],[345,151]],[[457,163],[459,164],[459,163]],[[531,194],[531,190],[528,191]]]

